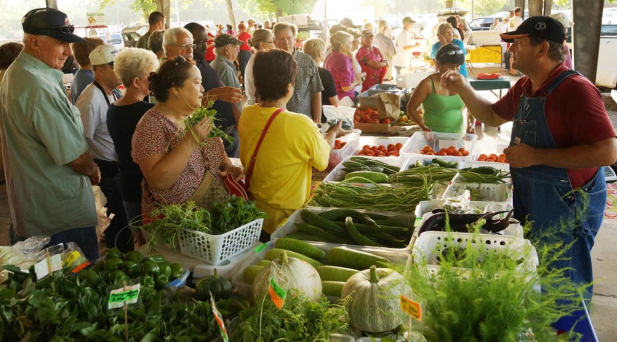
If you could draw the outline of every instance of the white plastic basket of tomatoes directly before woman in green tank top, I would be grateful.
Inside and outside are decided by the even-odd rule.
[[[437,158],[471,161],[476,153],[476,140],[478,140],[478,136],[475,134],[418,131],[413,134],[409,144],[401,149],[400,152],[410,156],[421,156],[420,150],[426,145],[429,145],[435,152],[438,152],[440,149],[447,149],[450,146],[456,147],[457,150],[464,147],[469,152],[469,155],[466,157],[445,155],[437,156]]]

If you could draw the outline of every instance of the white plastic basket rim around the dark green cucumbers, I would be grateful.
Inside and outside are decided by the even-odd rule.
[[[272,241],[276,241],[279,238],[282,237],[286,237],[289,234],[292,234],[294,232],[296,232],[298,229],[296,227],[296,223],[302,223],[304,222],[304,220],[302,219],[302,217],[300,217],[300,212],[302,210],[310,210],[315,214],[321,214],[325,211],[330,211],[330,210],[336,210],[337,208],[315,208],[315,207],[309,207],[309,208],[301,208],[299,210],[294,211],[294,213],[292,213],[288,219],[286,219],[285,221],[281,222],[281,224],[278,226],[278,228],[275,230],[275,232],[272,233],[272,235],[270,235],[270,239]],[[415,220],[416,220],[416,216],[414,214],[408,214],[408,213],[392,213],[392,212],[387,212],[387,211],[368,211],[368,210],[357,210],[360,211],[360,213],[373,213],[373,214],[381,214],[381,215],[385,215],[385,216],[389,216],[389,219],[391,219],[395,224],[400,224],[401,227],[407,227],[409,229],[413,229],[413,226],[415,224]],[[412,234],[412,237],[410,237],[410,241],[409,241],[409,245],[407,245],[405,248],[389,248],[389,247],[371,247],[371,248],[375,248],[375,249],[384,249],[384,250],[392,250],[392,251],[396,251],[396,252],[400,252],[400,253],[408,253],[408,251],[411,249],[411,246],[413,245],[413,238],[416,236],[416,232],[414,231]],[[311,242],[313,243],[313,242]],[[317,243],[317,242],[316,242]],[[347,246],[350,248],[363,248],[365,246],[359,246],[359,245],[347,245],[346,243],[328,243],[328,245],[331,246]]]

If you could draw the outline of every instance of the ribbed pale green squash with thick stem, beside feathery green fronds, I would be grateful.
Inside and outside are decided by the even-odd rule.
[[[346,303],[350,325],[363,332],[379,333],[404,323],[400,295],[410,291],[398,272],[371,266],[347,279],[341,298],[351,296]]]

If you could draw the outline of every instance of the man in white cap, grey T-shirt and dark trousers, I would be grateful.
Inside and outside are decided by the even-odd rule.
[[[94,82],[83,89],[75,105],[81,113],[83,131],[94,163],[101,169],[101,190],[107,197],[107,210],[115,215],[105,230],[107,248],[117,246],[126,252],[133,249],[133,240],[128,229],[125,229],[126,236],[116,238],[127,222],[120,195],[118,155],[107,129],[107,108],[122,96],[116,89],[122,82],[114,73],[114,58],[117,54],[118,49],[110,44],[97,46],[90,53]]]

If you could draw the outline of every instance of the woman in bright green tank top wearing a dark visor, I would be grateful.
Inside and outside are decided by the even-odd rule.
[[[420,125],[423,131],[447,133],[465,132],[465,116],[463,115],[463,100],[458,94],[453,94],[441,86],[441,75],[446,71],[458,71],[465,63],[465,55],[460,47],[446,44],[437,51],[435,66],[437,72],[422,81],[413,91],[412,98],[407,104],[407,115]],[[420,115],[418,107],[424,107],[424,115]],[[473,125],[468,126],[472,132]]]

